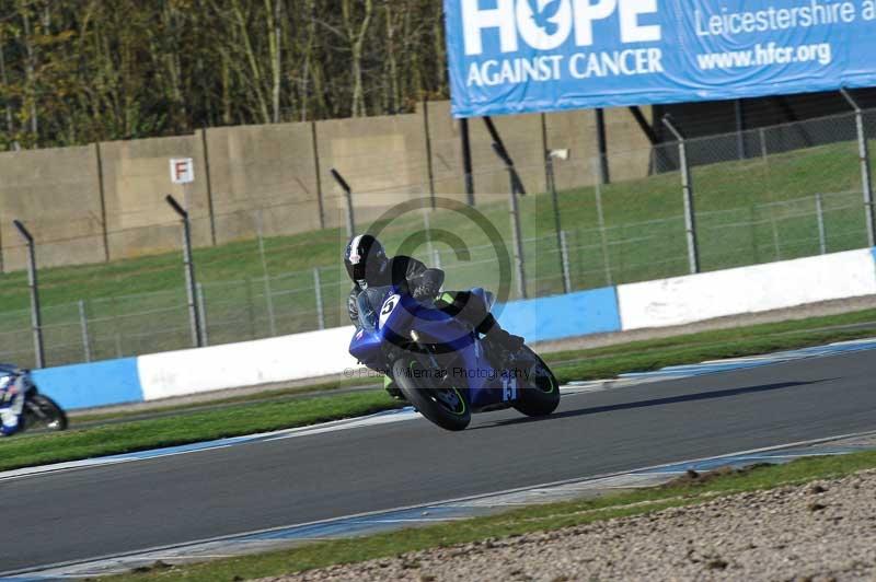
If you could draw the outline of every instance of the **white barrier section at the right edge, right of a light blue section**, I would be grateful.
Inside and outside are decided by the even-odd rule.
[[[683,325],[876,294],[871,249],[662,279],[618,288],[623,330]]]

